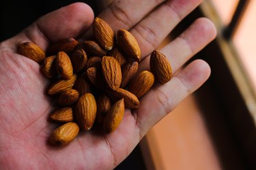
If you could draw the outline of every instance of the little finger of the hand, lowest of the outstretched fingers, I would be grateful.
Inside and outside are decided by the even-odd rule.
[[[210,67],[205,61],[196,60],[186,66],[167,84],[152,88],[137,109],[140,136],[171,112],[185,97],[197,90],[209,78]]]

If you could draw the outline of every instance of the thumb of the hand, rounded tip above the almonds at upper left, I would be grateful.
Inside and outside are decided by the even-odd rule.
[[[9,42],[20,44],[32,41],[45,50],[51,41],[78,37],[94,20],[91,7],[85,3],[73,3],[42,16]]]

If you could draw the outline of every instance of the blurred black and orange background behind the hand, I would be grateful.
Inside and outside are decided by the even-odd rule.
[[[0,41],[72,2],[0,1]],[[96,16],[111,3],[84,2]],[[192,60],[210,64],[210,79],[156,124],[116,169],[256,169],[256,1],[205,0],[163,44],[202,16],[214,22],[218,36]]]

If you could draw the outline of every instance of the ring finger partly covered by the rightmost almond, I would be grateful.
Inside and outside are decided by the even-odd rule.
[[[207,18],[199,18],[184,33],[160,49],[171,63],[173,73],[189,58],[204,48],[216,37],[216,28]],[[139,71],[150,70],[150,56],[141,61]]]

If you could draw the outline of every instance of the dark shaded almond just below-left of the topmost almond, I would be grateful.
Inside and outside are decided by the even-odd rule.
[[[101,48],[96,41],[84,41],[83,46],[89,56],[106,56],[106,50]]]

